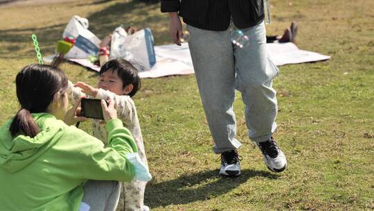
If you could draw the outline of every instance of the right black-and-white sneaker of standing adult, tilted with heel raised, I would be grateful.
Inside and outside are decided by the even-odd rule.
[[[264,161],[268,169],[274,172],[284,171],[287,167],[287,160],[285,154],[274,142],[273,137],[271,137],[266,142],[253,142],[260,148],[262,155],[264,156]]]

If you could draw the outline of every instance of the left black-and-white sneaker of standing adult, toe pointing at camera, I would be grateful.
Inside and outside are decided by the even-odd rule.
[[[240,160],[242,157],[238,155],[238,151],[226,151],[221,154],[221,169],[220,174],[224,176],[239,176]]]

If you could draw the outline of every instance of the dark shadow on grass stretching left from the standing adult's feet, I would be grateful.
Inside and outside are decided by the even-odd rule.
[[[249,178],[256,176],[269,179],[278,178],[268,171],[249,169],[242,170],[242,175],[236,178],[219,176],[217,170],[203,171],[161,183],[148,183],[145,189],[145,205],[158,208],[166,205],[205,201],[230,192],[231,189],[235,189]]]

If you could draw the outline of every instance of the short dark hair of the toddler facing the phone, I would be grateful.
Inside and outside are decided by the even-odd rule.
[[[123,58],[115,58],[105,62],[100,68],[100,76],[106,71],[117,71],[118,77],[121,78],[123,87],[132,84],[133,89],[129,93],[129,96],[134,96],[141,88],[141,80],[138,74],[138,70],[129,61]]]

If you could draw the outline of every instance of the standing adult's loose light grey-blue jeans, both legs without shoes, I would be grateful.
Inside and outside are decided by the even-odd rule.
[[[268,140],[276,130],[277,101],[271,80],[278,74],[278,68],[266,53],[265,24],[242,29],[249,37],[249,43],[242,49],[231,43],[229,28],[206,31],[188,25],[187,29],[215,153],[241,146],[235,139],[235,90],[242,94],[249,138],[254,142]]]

